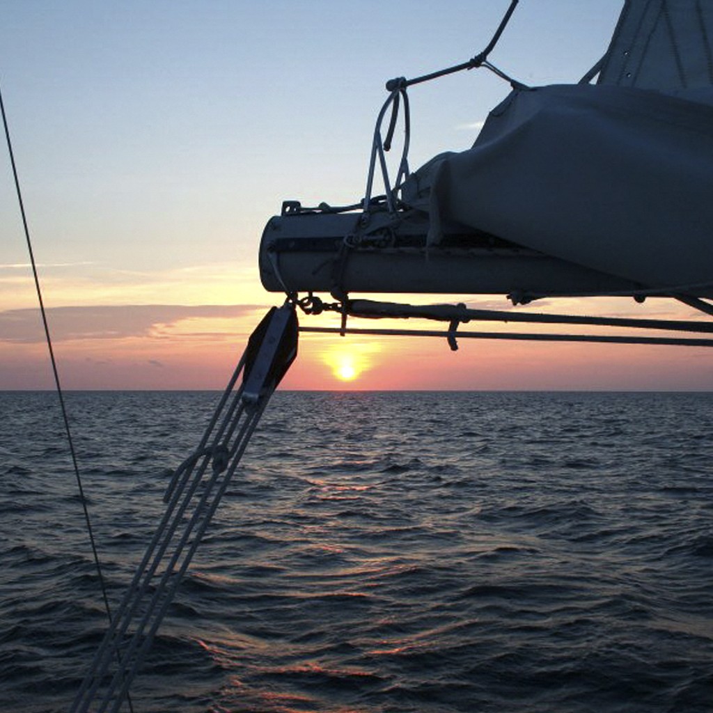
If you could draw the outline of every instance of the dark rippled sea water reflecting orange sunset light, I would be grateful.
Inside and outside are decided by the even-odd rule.
[[[67,395],[116,605],[212,393]],[[56,396],[0,394],[0,711],[106,628]],[[279,392],[138,712],[713,710],[713,394]]]

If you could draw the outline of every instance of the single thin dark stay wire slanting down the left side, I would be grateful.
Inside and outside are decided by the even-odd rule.
[[[14,151],[12,150],[12,141],[10,139],[10,129],[9,129],[9,125],[8,125],[7,116],[5,113],[5,103],[4,103],[3,97],[2,97],[1,85],[0,85],[0,113],[2,113],[2,123],[3,123],[3,128],[5,130],[5,140],[6,140],[6,144],[7,144],[7,150],[8,150],[9,156],[10,156],[10,165],[12,168],[12,175],[13,175],[13,179],[15,182],[15,192],[17,195],[17,201],[20,206],[22,227],[23,227],[24,233],[25,233],[25,240],[27,243],[27,251],[29,252],[29,256],[30,256],[30,265],[32,267],[32,275],[34,277],[35,289],[37,292],[37,299],[38,299],[39,306],[40,306],[40,313],[42,315],[42,324],[44,327],[45,339],[47,342],[47,349],[49,352],[49,359],[50,359],[50,362],[52,365],[52,373],[54,375],[54,383],[56,386],[57,396],[59,399],[59,406],[60,406],[60,409],[62,412],[62,420],[64,421],[64,430],[67,434],[67,442],[68,442],[68,446],[69,446],[69,452],[71,454],[72,465],[74,468],[74,475],[75,475],[75,478],[77,481],[77,488],[79,491],[79,499],[81,500],[82,509],[84,511],[84,519],[85,519],[86,525],[87,525],[89,542],[91,544],[91,550],[92,550],[92,554],[93,554],[93,558],[94,558],[94,565],[96,567],[96,572],[97,572],[97,575],[99,578],[99,585],[101,587],[101,595],[104,600],[104,607],[106,608],[106,615],[108,616],[109,621],[111,622],[111,607],[109,606],[109,598],[106,593],[106,583],[104,582],[104,576],[103,576],[103,573],[101,570],[101,562],[99,560],[99,553],[96,548],[96,540],[94,539],[94,532],[93,532],[93,528],[91,525],[91,518],[89,516],[89,509],[87,507],[86,497],[84,496],[84,488],[82,486],[82,478],[79,473],[79,466],[78,466],[78,461],[77,461],[76,450],[74,448],[72,431],[69,427],[69,419],[67,416],[67,409],[66,409],[66,405],[65,405],[65,401],[64,401],[64,394],[63,394],[61,382],[59,379],[59,371],[57,369],[57,361],[55,359],[54,349],[52,347],[52,338],[50,336],[49,324],[47,322],[47,313],[46,313],[46,310],[44,307],[44,300],[42,298],[42,289],[40,286],[39,275],[37,273],[37,265],[35,262],[34,250],[32,250],[32,241],[30,240],[30,230],[29,230],[29,227],[27,224],[27,216],[25,213],[24,201],[22,200],[22,191],[20,190],[20,180],[19,180],[19,177],[17,174],[17,167],[15,164],[15,154],[14,154]],[[131,704],[131,699],[130,699],[130,697],[128,697],[128,694],[127,694],[127,701],[128,701],[129,709],[130,709],[131,713],[133,713],[133,705]]]

